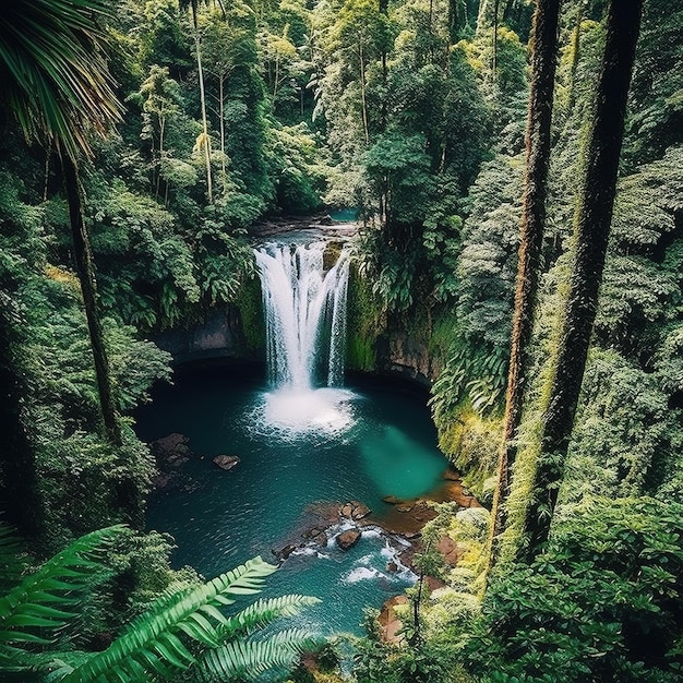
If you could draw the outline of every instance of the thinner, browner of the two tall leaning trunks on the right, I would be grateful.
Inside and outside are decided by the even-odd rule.
[[[529,368],[529,345],[534,332],[534,311],[538,293],[546,226],[550,127],[558,55],[560,3],[561,0],[539,0],[534,14],[531,86],[526,130],[525,191],[522,207],[503,442],[499,454],[499,480],[492,511],[489,568],[492,568],[498,560],[499,537],[505,528],[505,503],[510,493],[510,469],[517,455],[516,438],[522,421],[522,408]]]

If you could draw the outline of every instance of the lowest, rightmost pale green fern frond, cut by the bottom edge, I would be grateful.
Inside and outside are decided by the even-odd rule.
[[[288,669],[315,643],[315,636],[301,628],[280,631],[263,640],[232,640],[204,655],[200,676],[203,681],[243,680],[271,669]]]

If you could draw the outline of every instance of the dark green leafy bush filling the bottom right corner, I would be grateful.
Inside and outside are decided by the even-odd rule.
[[[466,659],[483,681],[674,683],[683,675],[683,505],[590,499],[546,553],[492,577]]]

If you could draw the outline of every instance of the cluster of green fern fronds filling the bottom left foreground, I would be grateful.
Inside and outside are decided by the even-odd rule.
[[[267,636],[261,631],[316,598],[260,599],[225,613],[239,597],[257,594],[275,572],[254,558],[205,584],[171,586],[105,650],[55,652],[55,635],[76,615],[83,594],[103,571],[107,547],[124,532],[118,525],[81,537],[0,597],[0,671],[52,671],[51,680],[69,683],[132,683],[167,680],[192,667],[203,680],[242,680],[290,667],[312,645],[313,636],[300,628]],[[0,524],[0,566],[11,565],[15,552],[14,538]]]

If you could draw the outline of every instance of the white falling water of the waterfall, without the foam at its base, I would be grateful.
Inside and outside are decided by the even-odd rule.
[[[344,379],[349,260],[324,271],[325,242],[256,250],[273,387],[298,392]]]

